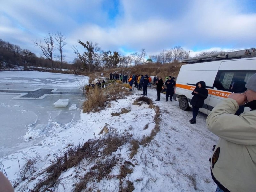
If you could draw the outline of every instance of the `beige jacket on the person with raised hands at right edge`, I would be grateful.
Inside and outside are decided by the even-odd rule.
[[[226,191],[255,192],[256,110],[236,116],[238,108],[233,99],[221,100],[206,119],[208,129],[220,137],[211,158],[211,174]]]

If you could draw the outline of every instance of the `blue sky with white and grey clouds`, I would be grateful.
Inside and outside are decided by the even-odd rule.
[[[205,50],[256,47],[255,0],[0,0],[0,38],[37,56],[33,40],[48,32],[67,37],[65,60],[76,57],[72,46],[97,42],[121,55],[158,54],[176,45],[191,56]],[[57,50],[56,50],[57,54]]]

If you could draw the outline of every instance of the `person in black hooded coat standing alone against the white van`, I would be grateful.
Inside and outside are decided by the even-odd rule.
[[[191,93],[194,95],[190,101],[190,104],[193,107],[193,118],[189,120],[191,124],[196,123],[196,116],[198,115],[199,108],[203,107],[204,100],[208,97],[208,90],[205,87],[205,82],[199,81],[196,83],[196,88]]]

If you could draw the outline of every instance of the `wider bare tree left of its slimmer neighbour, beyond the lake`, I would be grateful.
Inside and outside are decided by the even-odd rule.
[[[48,36],[44,37],[45,45],[41,41],[40,43],[38,43],[37,40],[33,42],[34,42],[34,45],[39,47],[39,49],[41,49],[41,51],[43,52],[42,56],[45,56],[48,60],[51,61],[52,69],[54,69],[53,52],[55,51],[55,48],[54,48],[53,34],[49,32]]]

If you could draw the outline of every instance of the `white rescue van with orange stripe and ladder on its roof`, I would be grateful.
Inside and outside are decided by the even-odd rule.
[[[241,53],[244,54],[241,56]],[[248,54],[250,58],[245,58],[245,53]],[[239,51],[240,56],[244,57],[241,59],[227,59],[227,55],[234,55],[234,52],[224,53],[226,55],[225,60],[220,58],[215,58],[211,55],[207,56],[207,61],[209,58],[210,62],[184,64],[180,68],[179,75],[176,80],[175,94],[173,95],[174,100],[179,101],[179,106],[182,110],[188,110],[190,105],[190,100],[193,97],[191,94],[196,87],[196,83],[199,81],[204,81],[206,83],[206,89],[209,94],[207,99],[204,100],[204,105],[199,111],[209,114],[214,106],[223,98],[227,98],[230,92],[231,84],[238,80],[247,82],[248,79],[256,73],[256,51],[255,49],[241,50]],[[237,52],[236,52],[237,53]],[[239,54],[235,54],[238,57]],[[211,56],[211,57],[210,57]],[[206,56],[202,56],[206,58]],[[232,58],[230,56],[230,58]],[[189,58],[184,60],[185,62],[195,62],[197,58]]]

